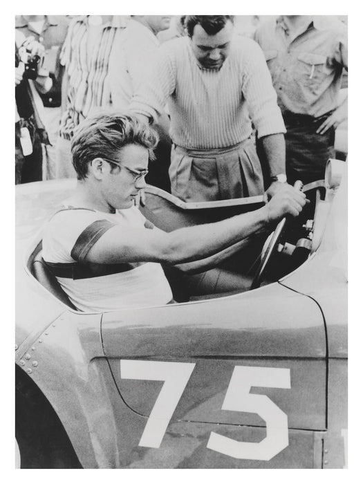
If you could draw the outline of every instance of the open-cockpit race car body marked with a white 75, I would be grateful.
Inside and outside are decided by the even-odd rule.
[[[75,181],[19,187],[21,466],[346,466],[346,187],[331,165],[304,242],[279,244],[277,259],[308,246],[298,265],[272,263],[253,290],[105,313],[77,311],[41,266],[39,230]],[[147,195],[164,230],[262,203]]]

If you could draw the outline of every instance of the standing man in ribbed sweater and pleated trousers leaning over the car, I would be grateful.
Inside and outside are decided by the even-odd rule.
[[[171,193],[184,201],[263,194],[252,122],[268,160],[271,196],[286,181],[285,127],[263,53],[234,35],[230,15],[185,19],[187,37],[166,42],[130,109],[155,122],[168,103]]]

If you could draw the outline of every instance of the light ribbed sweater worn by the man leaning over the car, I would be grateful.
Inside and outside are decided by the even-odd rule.
[[[284,133],[277,95],[261,48],[235,36],[219,71],[201,68],[183,37],[163,44],[129,109],[155,120],[168,103],[171,139],[186,149],[231,147]]]

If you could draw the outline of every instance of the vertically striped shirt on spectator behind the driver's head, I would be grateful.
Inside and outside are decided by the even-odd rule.
[[[113,16],[102,26],[89,26],[87,17],[76,17],[70,24],[60,62],[68,74],[66,111],[62,115],[60,135],[71,139],[73,130],[90,111],[112,106],[109,85],[109,57],[119,44],[126,19]]]

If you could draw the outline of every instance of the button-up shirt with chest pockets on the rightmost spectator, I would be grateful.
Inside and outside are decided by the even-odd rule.
[[[348,69],[346,26],[331,16],[313,17],[290,41],[282,17],[257,28],[254,39],[265,54],[281,111],[315,118],[335,109]]]

